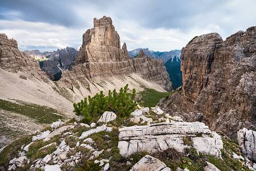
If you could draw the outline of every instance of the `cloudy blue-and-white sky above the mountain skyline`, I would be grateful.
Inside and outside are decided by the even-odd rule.
[[[219,33],[225,40],[256,25],[255,0],[0,0],[0,33],[20,50],[77,48],[93,19],[112,18],[128,50],[181,49],[194,36]]]

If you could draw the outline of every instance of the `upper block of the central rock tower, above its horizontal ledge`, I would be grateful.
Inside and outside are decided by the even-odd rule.
[[[120,38],[110,17],[94,19],[94,27],[83,35],[83,45],[76,64],[84,62],[127,61],[130,59],[126,44],[120,47]]]

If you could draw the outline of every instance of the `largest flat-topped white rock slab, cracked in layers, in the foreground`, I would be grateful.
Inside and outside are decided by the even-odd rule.
[[[221,136],[211,132],[200,122],[156,123],[147,126],[124,127],[119,130],[118,149],[122,156],[136,152],[154,153],[173,148],[184,152],[189,148],[184,138],[191,137],[191,144],[198,152],[221,156],[223,148]],[[202,135],[198,137],[198,135]]]

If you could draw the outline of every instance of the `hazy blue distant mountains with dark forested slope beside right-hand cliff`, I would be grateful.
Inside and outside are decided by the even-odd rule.
[[[136,57],[140,50],[143,50],[144,54],[148,57],[154,57],[156,59],[162,59],[164,61],[164,66],[170,76],[173,89],[182,85],[182,73],[180,71],[180,56],[181,50],[171,50],[169,52],[159,52],[149,50],[148,48],[138,48],[129,51],[131,58]]]

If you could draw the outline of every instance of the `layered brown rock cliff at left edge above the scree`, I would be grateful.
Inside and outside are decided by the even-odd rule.
[[[0,34],[0,68],[9,72],[40,71],[39,63],[20,52],[17,41]]]

